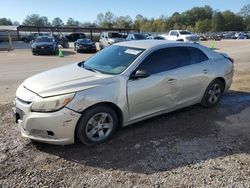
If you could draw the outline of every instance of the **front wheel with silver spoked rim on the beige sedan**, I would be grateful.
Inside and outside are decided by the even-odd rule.
[[[96,106],[87,110],[76,128],[78,139],[86,145],[108,141],[118,128],[116,112],[108,106]]]

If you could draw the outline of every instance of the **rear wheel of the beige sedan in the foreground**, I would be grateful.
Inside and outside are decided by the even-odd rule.
[[[217,105],[221,99],[221,96],[223,95],[224,87],[225,86],[221,80],[216,79],[212,81],[205,91],[201,105],[205,108],[210,108]]]

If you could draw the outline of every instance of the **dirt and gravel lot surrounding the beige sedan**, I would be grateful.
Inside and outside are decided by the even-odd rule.
[[[0,187],[250,187],[250,40],[215,44],[235,59],[234,83],[217,107],[155,117],[94,147],[34,145],[11,116],[25,78],[92,54],[0,52]]]

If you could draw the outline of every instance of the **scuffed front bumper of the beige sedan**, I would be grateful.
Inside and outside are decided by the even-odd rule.
[[[81,114],[67,107],[49,113],[31,112],[30,106],[15,99],[14,112],[23,137],[57,145],[74,143],[75,127]]]

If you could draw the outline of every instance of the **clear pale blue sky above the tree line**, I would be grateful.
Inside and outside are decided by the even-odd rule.
[[[137,14],[158,18],[204,5],[237,13],[246,4],[250,4],[250,0],[0,0],[0,18],[22,23],[27,15],[35,13],[47,16],[50,21],[60,17],[66,22],[73,17],[80,22],[94,22],[99,13],[107,11],[116,16],[129,15],[132,19]]]

